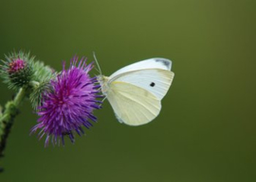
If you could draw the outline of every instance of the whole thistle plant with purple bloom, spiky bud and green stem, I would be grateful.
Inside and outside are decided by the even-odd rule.
[[[86,64],[82,58],[71,59],[70,67],[56,73],[43,62],[30,57],[22,51],[11,53],[1,60],[0,77],[9,89],[17,91],[13,100],[5,108],[0,106],[0,157],[4,156],[6,142],[14,119],[24,98],[28,98],[39,116],[31,133],[40,130],[39,138],[46,136],[53,145],[64,144],[64,137],[75,141],[75,132],[84,133],[83,126],[90,128],[97,122],[93,115],[95,109],[101,108],[100,84],[97,77],[90,77],[93,64]],[[1,167],[0,167],[1,172]]]

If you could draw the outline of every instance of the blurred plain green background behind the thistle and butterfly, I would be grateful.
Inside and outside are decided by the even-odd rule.
[[[255,182],[256,1],[0,0],[0,58],[13,49],[61,70],[74,55],[103,74],[171,58],[173,85],[154,122],[119,124],[106,101],[73,145],[44,147],[23,104],[1,182]],[[95,72],[96,73],[96,72]],[[13,92],[0,84],[0,103]]]

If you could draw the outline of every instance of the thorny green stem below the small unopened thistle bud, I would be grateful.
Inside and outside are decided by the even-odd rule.
[[[18,107],[25,96],[26,89],[21,88],[14,99],[6,104],[4,112],[2,113],[0,111],[0,157],[4,157],[4,150],[9,137],[10,128],[14,123],[14,118],[19,114]],[[0,173],[1,172],[3,172],[3,169],[0,167]]]

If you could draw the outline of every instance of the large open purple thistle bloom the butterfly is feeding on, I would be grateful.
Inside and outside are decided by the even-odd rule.
[[[62,140],[64,144],[64,136],[67,135],[71,142],[74,142],[73,131],[79,135],[83,134],[82,125],[86,128],[92,126],[89,119],[93,122],[97,118],[92,114],[94,109],[99,109],[101,106],[101,95],[97,78],[91,78],[88,72],[93,68],[92,63],[86,65],[86,59],[74,57],[70,61],[69,69],[58,74],[57,79],[51,80],[50,85],[52,91],[45,92],[42,106],[38,108],[38,124],[32,129],[31,133],[41,129],[38,136],[40,139],[46,135],[45,145],[52,141],[52,144],[57,144],[57,141]],[[78,63],[78,65],[77,65]]]

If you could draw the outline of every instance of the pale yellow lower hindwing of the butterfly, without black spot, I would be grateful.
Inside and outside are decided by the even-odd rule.
[[[147,124],[161,109],[161,103],[153,93],[121,81],[111,83],[107,99],[119,122],[129,125]]]

